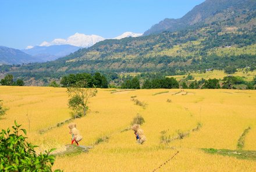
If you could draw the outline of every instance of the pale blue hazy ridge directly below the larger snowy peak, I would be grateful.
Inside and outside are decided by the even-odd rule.
[[[24,53],[36,57],[40,61],[52,61],[76,52],[82,47],[72,45],[34,46],[31,49],[22,50]]]

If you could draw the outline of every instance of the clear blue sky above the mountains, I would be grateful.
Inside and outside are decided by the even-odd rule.
[[[177,19],[204,0],[1,0],[0,45],[24,49],[76,32],[113,38]]]

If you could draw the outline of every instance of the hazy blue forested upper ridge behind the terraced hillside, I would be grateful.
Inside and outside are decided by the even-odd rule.
[[[195,6],[180,19],[165,19],[153,25],[144,35],[159,34],[163,31],[179,31],[200,24],[219,23],[229,25],[241,24],[233,20],[239,16],[255,16],[255,0],[206,0]],[[223,22],[225,21],[225,22]]]

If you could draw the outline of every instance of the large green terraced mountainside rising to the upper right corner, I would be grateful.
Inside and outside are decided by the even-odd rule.
[[[95,71],[174,75],[229,65],[256,69],[256,1],[207,0],[181,19],[166,20],[137,38],[106,39],[58,60],[8,72],[40,79]]]

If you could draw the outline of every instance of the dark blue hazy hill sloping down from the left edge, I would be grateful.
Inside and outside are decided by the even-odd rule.
[[[0,46],[0,64],[26,64],[34,62],[42,61],[20,50]]]

